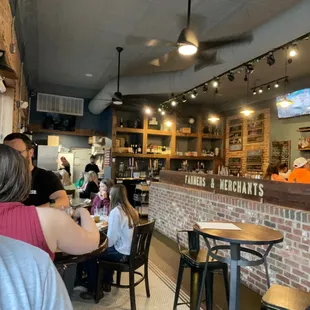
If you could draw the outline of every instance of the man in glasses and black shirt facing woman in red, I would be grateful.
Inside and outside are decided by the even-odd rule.
[[[59,178],[51,171],[33,166],[33,144],[26,135],[21,133],[9,134],[4,138],[4,144],[18,151],[29,162],[32,185],[29,197],[24,201],[26,206],[69,207],[68,196]]]

